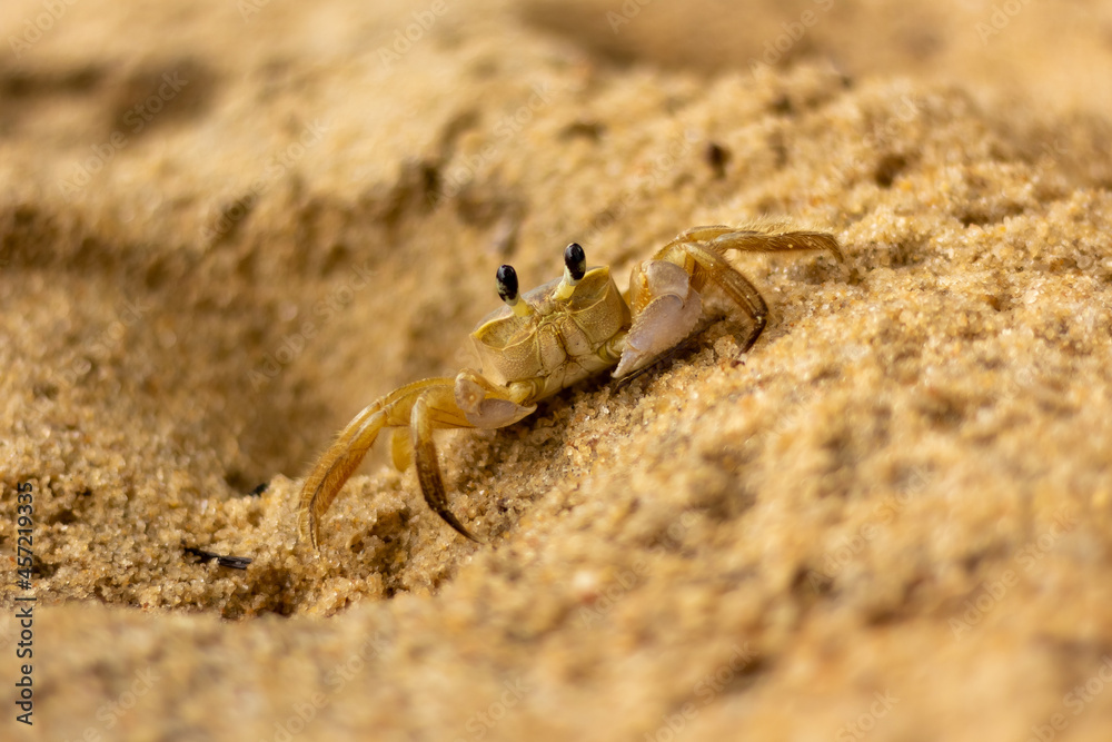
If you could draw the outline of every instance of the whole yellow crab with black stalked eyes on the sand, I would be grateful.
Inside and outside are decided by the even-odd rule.
[[[747,352],[765,327],[768,308],[756,287],[725,254],[827,250],[841,263],[833,235],[778,227],[695,227],[633,269],[618,290],[606,266],[587,267],[583,248],[564,250],[564,276],[520,295],[517,274],[496,274],[505,303],[471,333],[481,370],[407,384],[376,399],[348,423],[320,456],[301,488],[298,532],[314,550],[320,518],[359,466],[383,428],[394,428],[390,455],[399,471],[410,464],[428,506],[461,536],[481,543],[448,507],[433,434],[439,428],[500,428],[537,403],[613,368],[628,379],[667,355],[703,316],[702,293],[721,290],[749,319]]]

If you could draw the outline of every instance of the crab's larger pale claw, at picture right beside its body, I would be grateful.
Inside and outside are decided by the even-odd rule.
[[[629,281],[633,327],[625,337],[614,377],[622,378],[649,366],[686,338],[703,314],[703,299],[691,285],[691,275],[668,260],[649,260],[634,268]]]

